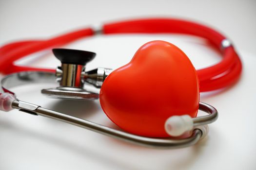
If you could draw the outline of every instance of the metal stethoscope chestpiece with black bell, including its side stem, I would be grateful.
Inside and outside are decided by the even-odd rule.
[[[86,64],[95,58],[96,53],[70,49],[53,49],[53,53],[61,62],[61,67],[56,69],[59,87],[42,89],[41,93],[65,99],[98,99],[98,93],[86,89],[85,84],[100,88],[112,70],[96,68],[85,72]]]

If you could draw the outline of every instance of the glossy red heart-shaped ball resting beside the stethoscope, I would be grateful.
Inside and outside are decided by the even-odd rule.
[[[124,131],[167,137],[166,119],[197,116],[198,84],[197,72],[183,51],[165,41],[151,41],[106,78],[99,100],[106,115]]]

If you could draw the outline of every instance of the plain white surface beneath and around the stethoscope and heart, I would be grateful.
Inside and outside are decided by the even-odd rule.
[[[210,125],[209,136],[196,146],[177,150],[143,148],[56,120],[19,111],[0,112],[0,170],[256,169],[256,51],[253,43],[248,44],[256,37],[255,1],[191,1],[186,4],[182,1],[147,1],[147,5],[143,5],[145,1],[116,1],[112,4],[109,1],[55,1],[53,5],[51,2],[1,0],[0,43],[49,37],[71,28],[123,17],[175,15],[211,23],[228,34],[241,54],[243,74],[232,88],[201,95],[202,102],[218,109],[219,119]],[[67,47],[97,52],[88,69],[99,66],[118,68],[127,63],[143,43],[155,39],[176,44],[196,68],[220,60],[219,54],[206,47],[201,39],[177,35],[98,36]],[[40,60],[27,59],[24,63],[47,67],[59,65],[50,53]],[[61,101],[40,95],[41,88],[52,86],[27,85],[13,90],[20,100],[117,128],[104,115],[98,101]]]

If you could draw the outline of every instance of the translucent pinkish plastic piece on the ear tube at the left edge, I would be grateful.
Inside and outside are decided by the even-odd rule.
[[[17,100],[16,97],[11,93],[0,94],[0,110],[8,112],[12,110],[12,102]]]

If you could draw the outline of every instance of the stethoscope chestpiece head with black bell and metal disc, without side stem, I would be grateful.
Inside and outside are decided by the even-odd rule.
[[[71,49],[53,49],[53,53],[61,62],[61,67],[56,69],[59,87],[43,89],[41,92],[52,97],[66,99],[98,99],[98,94],[83,88],[84,80],[81,77],[86,63],[93,60],[96,53]]]

